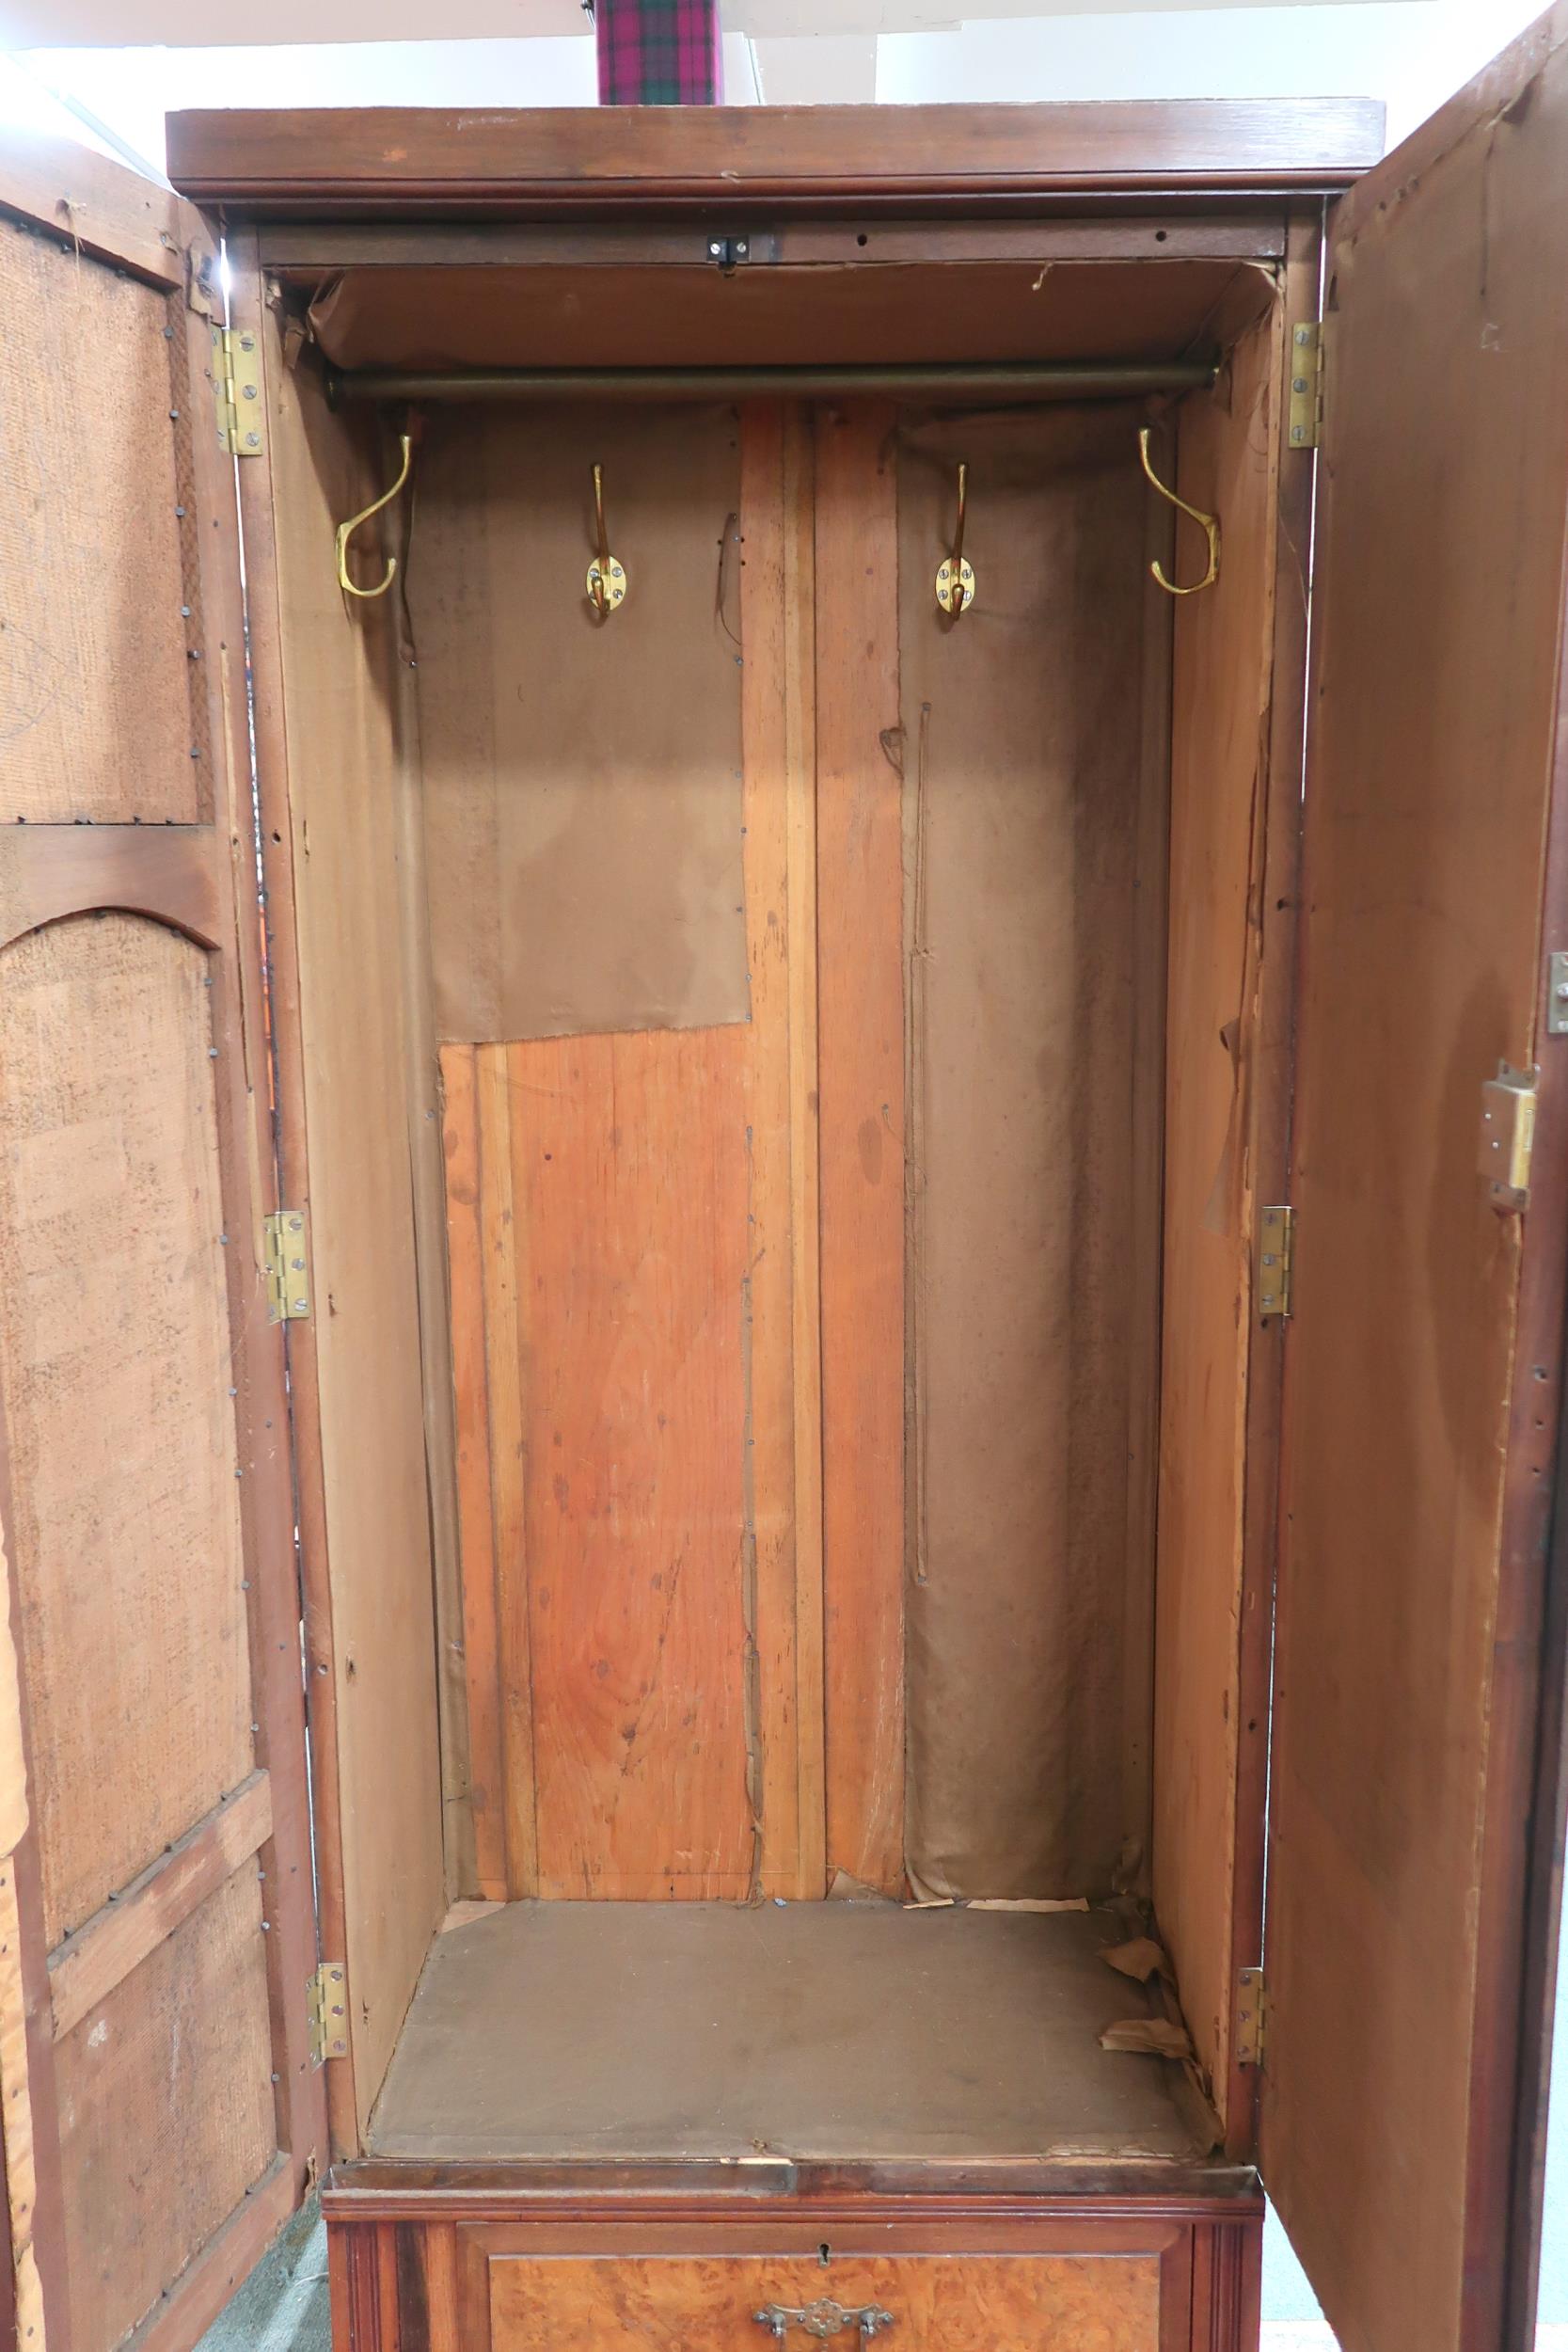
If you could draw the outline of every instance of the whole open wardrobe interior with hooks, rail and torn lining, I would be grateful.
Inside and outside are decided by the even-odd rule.
[[[1286,332],[1154,245],[273,287],[348,2147],[1222,2145]]]

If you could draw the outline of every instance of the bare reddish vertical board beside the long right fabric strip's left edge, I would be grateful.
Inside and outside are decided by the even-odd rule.
[[[816,435],[827,1877],[903,1889],[905,1004],[891,409]]]

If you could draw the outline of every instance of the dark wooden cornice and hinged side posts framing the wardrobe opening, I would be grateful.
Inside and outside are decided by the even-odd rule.
[[[670,111],[675,113],[675,111]],[[743,219],[759,207],[769,249],[790,259],[860,261],[896,254],[940,256],[961,268],[978,256],[1032,249],[1072,256],[1269,259],[1281,294],[1316,303],[1324,230],[1321,195],[1335,193],[1382,151],[1380,108],[1349,106],[1018,106],[1018,108],[832,108],[494,113],[475,122],[442,111],[303,111],[169,118],[169,169],[186,193],[221,205],[235,261],[235,306],[259,303],[261,280],[313,280],[334,266],[691,266],[701,259],[693,216]],[[741,153],[741,167],[729,160]],[[959,158],[959,162],[943,162]],[[1220,158],[1227,158],[1222,165]],[[1237,162],[1241,158],[1241,162]],[[1307,191],[1307,193],[1302,193]],[[1199,207],[1201,209],[1192,209]],[[719,209],[722,207],[722,209]],[[1016,216],[1027,212],[1030,219]],[[1095,216],[1110,212],[1112,219]],[[1060,216],[1067,214],[1067,216]],[[456,216],[456,219],[454,219]],[[1041,219],[1044,216],[1044,219]],[[860,230],[853,223],[875,226]],[[1034,221],[1041,221],[1037,228]],[[480,226],[468,226],[470,221]],[[496,226],[527,221],[527,228]],[[896,226],[891,226],[896,223]],[[907,226],[905,226],[907,223]],[[1166,238],[1168,230],[1168,238]],[[1288,358],[1288,355],[1286,355]],[[252,572],[259,668],[275,652],[270,522],[266,480],[240,468]],[[1279,927],[1260,974],[1258,1070],[1251,1150],[1260,1200],[1288,1162],[1293,950],[1302,708],[1305,600],[1302,546],[1309,532],[1312,468],[1279,470],[1279,600],[1274,703],[1267,755],[1267,906]],[[256,699],[263,833],[268,856],[287,866],[282,807],[287,750],[268,694]],[[282,847],[275,837],[284,835]],[[287,870],[270,898],[287,901]],[[284,1174],[303,1124],[289,1115],[299,1094],[299,974],[289,927],[273,934],[273,985],[282,1065]],[[294,1136],[294,1141],[292,1141]],[[296,1169],[303,1190],[303,1169]],[[308,1374],[296,1350],[296,1383]],[[1239,1853],[1232,1919],[1232,1983],[1262,1950],[1265,1785],[1269,1621],[1274,1578],[1274,1494],[1279,1449],[1279,1327],[1253,1327],[1248,1385],[1248,1470],[1244,1496]],[[301,1392],[308,1406],[308,1397]],[[320,1432],[306,1409],[296,1428],[301,1536],[313,1668],[329,1653]],[[343,1865],[334,1811],[331,1675],[310,1675],[317,1733],[317,1870],[327,1950],[341,1950]],[[336,1922],[336,1929],[334,1929]],[[1237,2034],[1232,2032],[1232,2053]],[[357,2147],[353,2084],[329,2070],[331,2136],[339,2159]],[[1255,2145],[1255,2074],[1232,2058],[1227,2147],[1248,2161]],[[1060,2178],[1060,2176],[1058,2176]]]

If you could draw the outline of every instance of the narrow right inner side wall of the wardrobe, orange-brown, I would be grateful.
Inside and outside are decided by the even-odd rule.
[[[1284,318],[1178,421],[1178,487],[1222,515],[1220,581],[1175,614],[1171,943],[1154,1618],[1154,1910],[1222,2122],[1246,1573],[1258,1209],[1258,1011],[1276,600]],[[1192,562],[1178,529],[1178,572]],[[1295,767],[1300,771],[1300,767]],[[1281,783],[1288,797],[1288,783]],[[1272,1054],[1279,1054],[1274,1035]],[[1279,1068],[1267,1108],[1279,1115]],[[1269,1136],[1279,1171],[1284,1134]],[[1267,1475],[1267,1472],[1265,1472]],[[1255,1693],[1248,1693],[1255,1698]]]

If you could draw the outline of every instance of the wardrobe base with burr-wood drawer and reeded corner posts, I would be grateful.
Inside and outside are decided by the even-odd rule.
[[[348,2220],[331,2199],[334,2352],[1255,2352],[1255,2204],[1060,2206]]]

